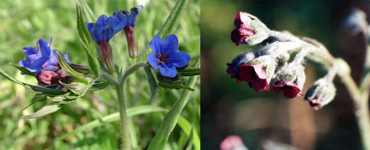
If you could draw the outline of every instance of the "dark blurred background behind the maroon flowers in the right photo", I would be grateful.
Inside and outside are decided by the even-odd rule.
[[[353,103],[338,79],[336,98],[314,111],[303,96],[287,99],[282,93],[255,92],[246,82],[236,83],[226,73],[226,63],[261,47],[235,46],[231,41],[235,15],[243,11],[258,17],[271,30],[287,30],[322,42],[334,57],[350,64],[358,83],[363,72],[364,38],[350,35],[341,24],[353,8],[365,11],[370,21],[369,6],[368,0],[202,0],[202,149],[219,149],[229,135],[240,136],[250,150],[269,149],[266,140],[305,150],[362,149]],[[303,93],[325,74],[309,64],[305,72]]]

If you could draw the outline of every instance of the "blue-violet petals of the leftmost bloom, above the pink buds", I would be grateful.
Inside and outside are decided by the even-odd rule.
[[[33,47],[24,47],[23,52],[26,54],[25,60],[20,60],[18,64],[24,68],[27,68],[31,72],[36,74],[39,72],[44,72],[47,70],[58,70],[60,69],[57,52],[62,54],[58,50],[51,51],[51,43],[53,42],[53,37],[50,38],[49,45],[47,41],[40,38],[36,41],[37,50]],[[64,59],[67,63],[71,63],[68,58],[68,52],[64,54]]]

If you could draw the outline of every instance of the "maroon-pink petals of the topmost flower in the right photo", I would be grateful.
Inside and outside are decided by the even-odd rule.
[[[236,28],[231,32],[231,40],[236,43],[236,46],[245,42],[255,34],[255,31],[250,27],[251,22],[252,19],[248,17],[246,13],[239,12],[236,14],[234,20]]]

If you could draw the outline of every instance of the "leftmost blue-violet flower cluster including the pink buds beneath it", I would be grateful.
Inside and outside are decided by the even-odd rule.
[[[71,83],[73,82],[73,78],[61,69],[57,57],[57,53],[61,54],[65,62],[70,64],[71,61],[68,58],[69,51],[63,55],[58,50],[51,50],[52,42],[53,37],[50,38],[49,45],[44,39],[40,38],[36,41],[37,50],[33,47],[24,47],[23,52],[26,54],[26,59],[20,60],[18,64],[34,72],[36,74],[35,78],[40,85],[60,85],[60,82]]]

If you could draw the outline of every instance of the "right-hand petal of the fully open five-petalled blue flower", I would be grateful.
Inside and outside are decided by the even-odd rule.
[[[166,64],[174,64],[176,67],[184,67],[190,61],[190,55],[186,52],[174,52],[168,54]]]

